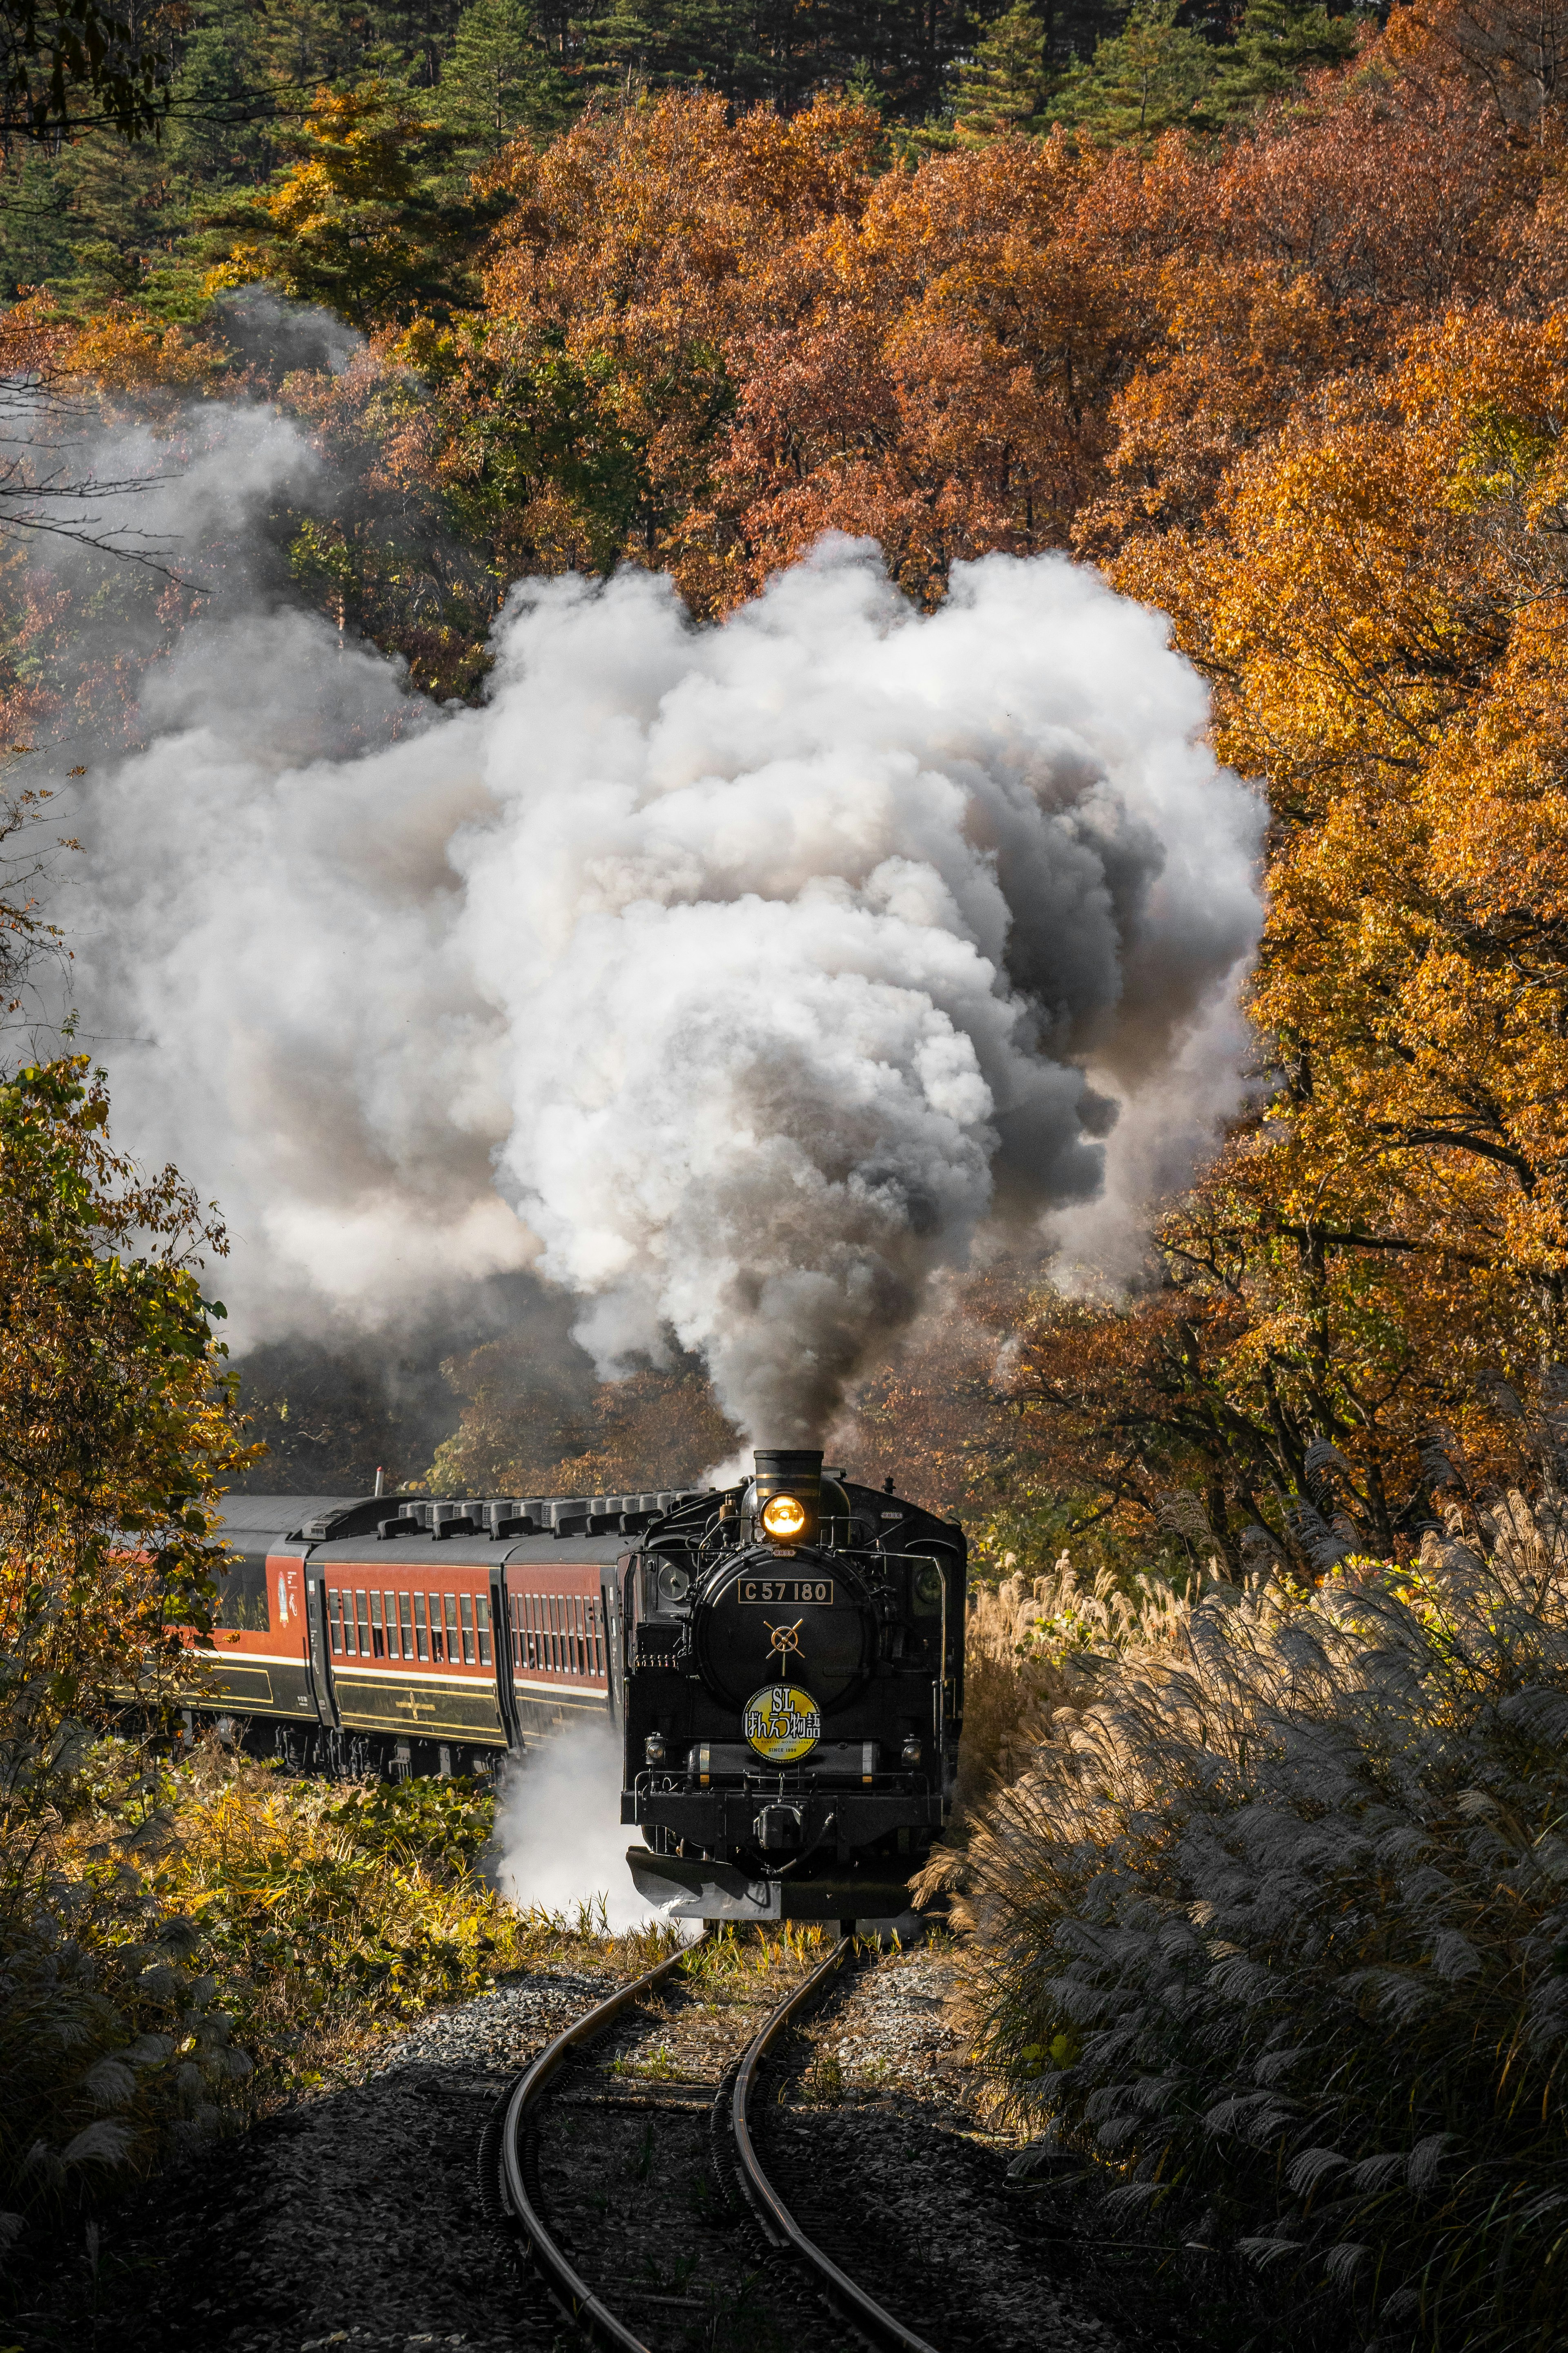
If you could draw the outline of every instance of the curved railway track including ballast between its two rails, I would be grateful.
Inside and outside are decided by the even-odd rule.
[[[842,2247],[820,2242],[809,2221],[820,2200],[802,2200],[769,2162],[771,2071],[853,1967],[851,1941],[813,1967],[797,1953],[795,1969],[729,1986],[722,1958],[710,1941],[672,1955],[517,2075],[480,2139],[491,2221],[517,2235],[576,2329],[614,2353],[936,2353],[851,2275]],[[649,2057],[672,2002],[708,2014],[701,2047],[686,2038],[679,2057],[677,2033],[677,2057],[668,2042]]]

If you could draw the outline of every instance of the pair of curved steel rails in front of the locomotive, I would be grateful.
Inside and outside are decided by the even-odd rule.
[[[717,2313],[703,2315],[698,2299],[658,2294],[628,2280],[621,2282],[621,2292],[604,2285],[604,2271],[595,2261],[595,2224],[583,2198],[576,2195],[569,2200],[569,2209],[557,2214],[541,2179],[541,2111],[581,2064],[588,2047],[658,1998],[661,1988],[689,1965],[693,1951],[698,1946],[675,1953],[630,1986],[621,1986],[545,2045],[538,2059],[501,2094],[480,2137],[480,2195],[487,2214],[496,2226],[517,2235],[538,2280],[578,2332],[590,2344],[614,2348],[614,2353],[656,2353],[646,2334],[639,2332],[649,2329],[646,2318],[632,2325],[628,2301],[632,2313],[639,2306],[642,2311],[658,2308],[656,2318],[663,2320],[663,2327],[649,2329],[649,2334],[665,2341],[675,2329],[684,2344],[717,2346],[722,2341],[719,2320]],[[766,2320],[757,2311],[759,2292],[766,2306],[783,2308],[785,2337],[802,2346],[802,2353],[811,2353],[811,2346],[837,2353],[844,2346],[844,2325],[853,2339],[875,2346],[877,2353],[936,2353],[924,2337],[905,2327],[865,2285],[853,2280],[842,2261],[835,2261],[835,2254],[818,2245],[785,2188],[771,2177],[764,2148],[759,2148],[757,2111],[764,2099],[766,2064],[790,2028],[851,1960],[851,1939],[839,1939],[827,1958],[769,2009],[757,2033],[729,2064],[717,2092],[705,2101],[705,2153],[719,2191],[719,2212],[726,2212],[731,2221],[736,2217],[750,2219],[766,2249],[743,2282],[752,2292],[748,2339],[766,2332]],[[675,2108],[672,2101],[654,2101],[651,2106]],[[696,2101],[682,2101],[686,2115],[696,2106]],[[649,2120],[649,2151],[651,2129]],[[581,2238],[588,2238],[588,2245],[578,2245]],[[816,2327],[802,2329],[802,2301],[818,2306],[811,2315]],[[616,2306],[621,2308],[616,2311]],[[696,2329],[691,2327],[693,2315]]]

